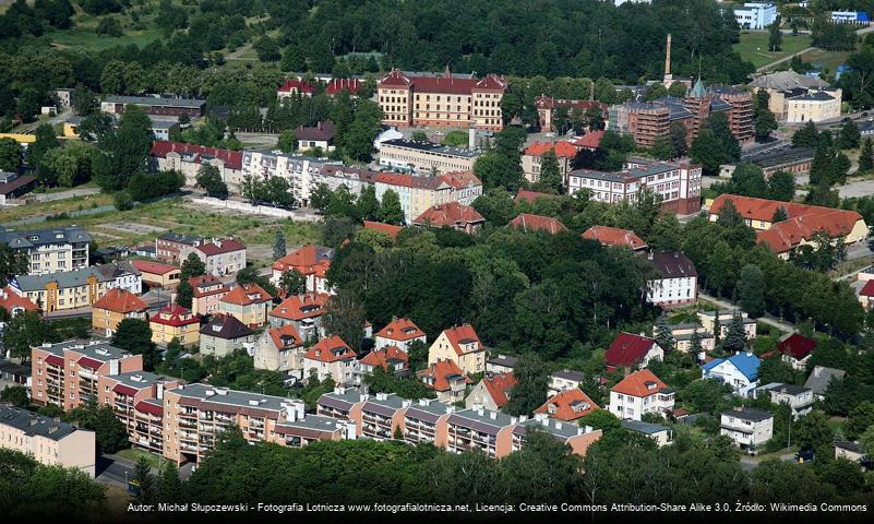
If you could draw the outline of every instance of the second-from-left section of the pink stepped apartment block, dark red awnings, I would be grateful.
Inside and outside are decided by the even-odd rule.
[[[132,371],[100,377],[98,405],[110,406],[124,425],[132,444],[153,453],[164,451],[164,432],[160,417],[152,406],[160,406],[164,391],[176,388],[179,381],[166,379],[148,371]],[[141,406],[146,401],[157,401]],[[157,418],[157,419],[156,419]]]

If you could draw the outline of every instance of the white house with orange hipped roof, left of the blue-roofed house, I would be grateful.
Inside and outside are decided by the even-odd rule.
[[[662,417],[673,410],[674,391],[656,374],[642,369],[610,389],[610,413],[621,419],[640,420],[647,413]]]

